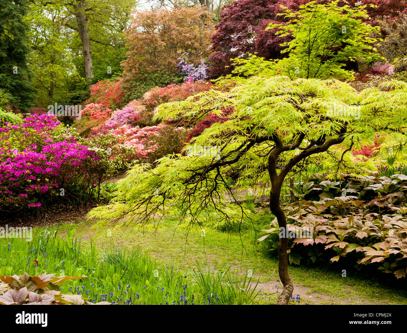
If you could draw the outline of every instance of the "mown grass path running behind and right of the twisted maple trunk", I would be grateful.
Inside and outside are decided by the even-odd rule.
[[[238,233],[219,231],[206,232],[201,237],[201,231],[190,232],[186,238],[186,229],[178,227],[177,221],[166,218],[160,225],[147,228],[118,230],[111,229],[111,237],[107,237],[107,228],[91,229],[91,222],[79,222],[60,227],[63,235],[66,227],[76,228],[81,235],[83,246],[96,244],[104,249],[110,246],[131,247],[140,246],[147,250],[160,263],[173,263],[181,271],[196,267],[210,266],[211,269],[221,269],[230,266],[238,274],[249,274],[260,279],[263,293],[275,292],[278,282],[278,261],[264,253],[255,239],[258,235],[253,230]],[[56,228],[53,226],[52,228]],[[407,304],[407,292],[383,285],[374,279],[360,279],[348,276],[341,277],[341,272],[314,267],[289,266],[289,274],[294,282],[294,293],[300,294],[302,303],[309,304]]]

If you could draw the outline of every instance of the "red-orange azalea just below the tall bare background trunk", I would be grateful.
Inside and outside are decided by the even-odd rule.
[[[97,103],[103,107],[117,108],[123,105],[125,93],[122,91],[121,79],[116,82],[99,81],[90,87],[90,98],[86,103]]]

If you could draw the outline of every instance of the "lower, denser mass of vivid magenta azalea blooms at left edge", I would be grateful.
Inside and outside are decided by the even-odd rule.
[[[0,163],[3,211],[39,207],[50,195],[62,193],[69,198],[70,188],[80,182],[91,188],[98,183],[90,172],[98,158],[88,147],[76,143],[57,142],[39,152],[33,147],[22,152],[0,148],[0,155],[5,159]]]

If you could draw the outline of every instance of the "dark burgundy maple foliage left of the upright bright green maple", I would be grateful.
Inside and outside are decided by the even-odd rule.
[[[270,23],[287,22],[280,5],[289,9],[298,7],[309,0],[239,0],[223,7],[221,21],[215,26],[212,36],[212,64],[210,77],[230,74],[233,70],[231,59],[245,58],[256,53],[265,59],[280,59],[284,49],[280,44],[289,38],[276,36],[273,30],[266,31]]]

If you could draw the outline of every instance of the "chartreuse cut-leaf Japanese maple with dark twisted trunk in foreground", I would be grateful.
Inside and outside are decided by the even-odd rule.
[[[153,214],[177,212],[184,220],[200,226],[213,216],[225,223],[234,222],[243,218],[246,211],[225,202],[224,196],[227,192],[233,196],[226,178],[231,172],[238,172],[237,185],[271,185],[270,208],[278,217],[279,226],[285,227],[279,200],[284,178],[292,168],[312,162],[319,163],[322,170],[363,174],[374,165],[357,160],[343,145],[357,146],[376,133],[394,132],[398,139],[405,136],[405,82],[388,83],[387,91],[372,88],[357,92],[348,83],[335,79],[291,81],[287,76],[268,76],[267,70],[249,78],[225,78],[219,84],[232,85],[228,80],[238,82],[230,91],[212,89],[185,101],[162,104],[155,115],[194,121],[210,113],[220,115],[225,107],[233,108],[229,120],[213,124],[184,148],[193,151],[194,144],[210,146],[216,154],[167,156],[160,159],[156,168],[137,165],[119,183],[114,201],[97,207],[89,217],[106,221],[129,216],[125,224],[138,224]],[[349,110],[352,104],[360,108],[359,117],[332,112],[333,106],[336,110]],[[284,260],[287,261],[287,244],[285,249],[284,244],[281,251],[279,248],[279,261]],[[287,268],[280,267],[285,290],[292,282],[288,274],[281,277],[284,272]],[[291,296],[289,287],[287,292]]]

